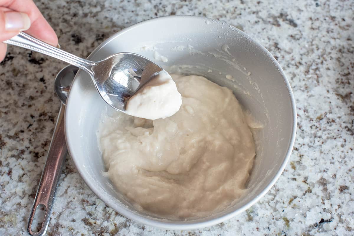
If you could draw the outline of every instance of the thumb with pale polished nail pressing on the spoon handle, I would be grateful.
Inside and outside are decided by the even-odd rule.
[[[31,26],[30,18],[26,13],[0,10],[0,42],[12,38],[20,30],[27,30]]]

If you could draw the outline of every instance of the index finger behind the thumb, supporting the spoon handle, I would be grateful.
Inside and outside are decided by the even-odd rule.
[[[0,0],[0,6],[26,13],[31,20],[31,27],[25,32],[53,46],[58,45],[55,31],[32,0]]]

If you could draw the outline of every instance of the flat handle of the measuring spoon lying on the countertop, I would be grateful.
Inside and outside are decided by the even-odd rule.
[[[64,111],[65,105],[62,103],[52,141],[49,146],[46,164],[42,172],[42,177],[39,182],[36,197],[34,199],[33,208],[28,220],[27,231],[32,236],[43,236],[47,231],[50,215],[53,208],[53,200],[55,197],[55,192],[57,191],[58,180],[62,171],[62,164],[68,153],[64,136]],[[37,208],[38,206],[45,207],[44,219],[39,219],[40,214],[35,214],[36,211],[39,210],[39,208]],[[38,232],[34,232],[32,230],[32,222],[35,215],[38,222],[42,222],[42,226]]]

